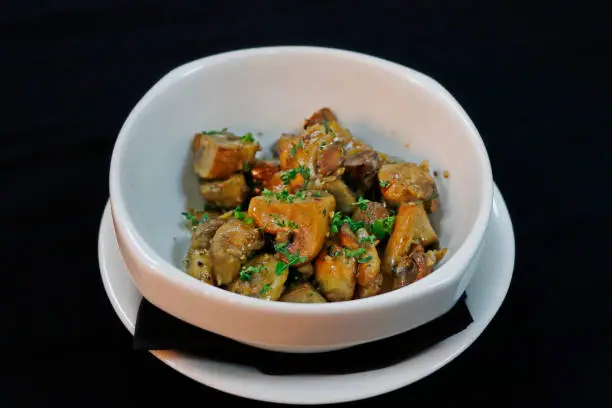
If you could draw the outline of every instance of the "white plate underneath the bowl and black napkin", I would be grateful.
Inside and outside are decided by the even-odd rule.
[[[106,293],[130,333],[142,296],[121,258],[107,203],[98,242]],[[508,209],[497,189],[481,261],[467,288],[474,322],[464,331],[405,361],[380,370],[346,375],[269,376],[234,364],[174,351],[152,351],[176,371],[229,394],[289,404],[325,404],[360,400],[411,384],[440,369],[476,340],[501,306],[514,269],[514,233]]]

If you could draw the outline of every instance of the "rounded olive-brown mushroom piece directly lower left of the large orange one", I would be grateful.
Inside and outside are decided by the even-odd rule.
[[[232,218],[219,227],[211,245],[217,285],[236,279],[242,263],[263,246],[263,234],[252,224]]]

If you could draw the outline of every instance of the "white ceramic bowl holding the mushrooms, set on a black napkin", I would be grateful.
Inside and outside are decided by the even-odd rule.
[[[267,148],[330,107],[352,133],[385,153],[428,159],[441,210],[434,226],[447,256],[426,278],[349,302],[269,302],[203,284],[182,269],[189,231],[181,212],[201,205],[190,162],[194,133],[261,132]],[[408,146],[408,147],[406,147]],[[162,310],[261,348],[326,351],[414,328],[446,312],[468,284],[491,212],[485,146],[457,101],[412,69],[355,52],[269,47],[215,55],[164,76],[117,138],[110,200],[121,253],[140,292]]]

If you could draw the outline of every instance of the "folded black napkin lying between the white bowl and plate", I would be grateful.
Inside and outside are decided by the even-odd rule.
[[[465,293],[451,310],[422,326],[358,346],[323,353],[258,349],[195,327],[142,299],[134,332],[135,350],[176,350],[211,360],[254,367],[269,375],[350,374],[406,360],[469,326]]]

